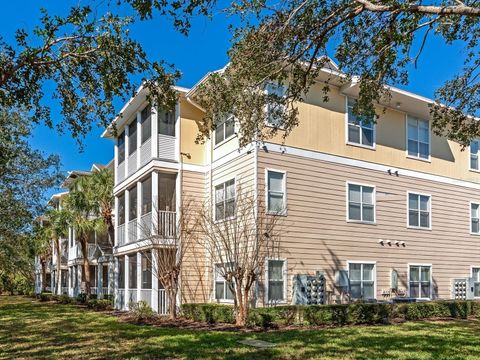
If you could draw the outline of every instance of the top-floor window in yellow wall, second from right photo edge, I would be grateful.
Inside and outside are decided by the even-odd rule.
[[[408,116],[408,156],[428,160],[430,158],[430,129],[427,120]]]

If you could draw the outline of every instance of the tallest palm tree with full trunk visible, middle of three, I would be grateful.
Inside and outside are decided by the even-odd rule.
[[[75,182],[65,201],[65,208],[70,212],[71,224],[82,250],[87,297],[91,295],[88,237],[92,233],[105,231],[103,220],[98,218],[98,204],[94,201],[92,188],[91,176],[81,177]]]

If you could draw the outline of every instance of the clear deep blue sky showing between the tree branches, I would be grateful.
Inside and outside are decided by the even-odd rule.
[[[112,1],[115,3],[115,1]],[[40,4],[43,5],[40,5]],[[2,2],[2,21],[0,34],[10,42],[15,30],[23,27],[32,30],[38,23],[41,6],[51,14],[64,15],[70,6],[77,3],[88,4],[85,0],[56,0],[39,2],[38,0],[17,0]],[[230,45],[228,31],[229,20],[223,15],[213,19],[199,18],[193,24],[190,36],[185,37],[173,30],[168,19],[160,16],[154,20],[132,26],[131,34],[139,40],[152,60],[165,59],[182,71],[178,85],[191,87],[206,72],[221,68],[228,61],[227,50]],[[433,97],[434,91],[453,74],[461,71],[462,53],[457,46],[447,47],[441,39],[430,38],[420,58],[418,69],[412,67],[410,84],[403,87],[417,94]],[[45,99],[45,102],[52,102]],[[123,103],[117,101],[117,110]],[[61,121],[58,108],[54,107],[52,116],[55,122]],[[113,143],[100,138],[104,129],[95,128],[83,140],[84,151],[79,152],[78,145],[67,134],[60,135],[54,130],[38,126],[31,144],[46,153],[57,153],[62,160],[64,171],[89,169],[92,163],[107,163],[113,157]]]

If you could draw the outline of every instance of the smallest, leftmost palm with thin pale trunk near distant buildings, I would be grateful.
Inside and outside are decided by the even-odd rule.
[[[61,240],[68,236],[68,228],[70,222],[70,212],[67,210],[50,210],[47,213],[48,218],[48,232],[55,244],[55,252],[57,253],[57,294],[62,293],[62,254],[61,254]]]

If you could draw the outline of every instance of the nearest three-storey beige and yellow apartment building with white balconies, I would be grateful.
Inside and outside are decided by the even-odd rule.
[[[480,297],[478,141],[463,150],[433,134],[432,101],[396,88],[377,123],[364,123],[352,113],[359,84],[341,77],[333,62],[320,72],[284,142],[279,135],[244,148],[234,118],[195,143],[196,86],[176,88],[172,112],[151,107],[145,89],[138,91],[114,120],[116,132],[112,125],[103,134],[115,141],[118,308],[144,300],[165,312],[139,228],[158,229],[168,244],[184,197],[226,209],[239,187],[280,211],[288,228],[281,256],[267,260],[256,286],[259,305],[296,302],[305,290],[298,279],[307,275],[325,279],[330,303],[451,298],[455,279]],[[231,303],[216,264],[201,250],[190,259],[202,270],[184,264],[178,301]]]

